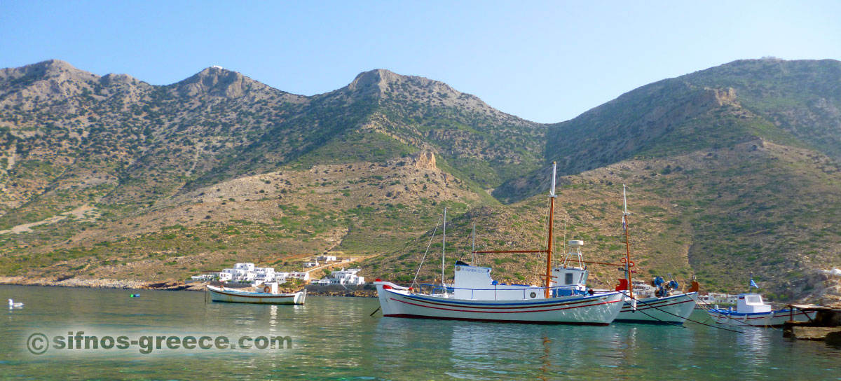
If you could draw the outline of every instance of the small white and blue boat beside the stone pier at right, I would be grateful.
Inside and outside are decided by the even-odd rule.
[[[747,294],[738,294],[736,310],[720,309],[716,305],[706,312],[717,324],[756,327],[780,327],[785,321],[813,320],[817,314],[816,311],[773,310],[770,304],[764,303],[762,295],[750,292],[752,287],[757,287],[754,279],[750,280]]]

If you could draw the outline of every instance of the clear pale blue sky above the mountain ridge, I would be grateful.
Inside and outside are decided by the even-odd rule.
[[[0,67],[56,58],[168,84],[220,65],[306,95],[384,68],[555,123],[733,60],[841,60],[839,19],[838,1],[0,0]]]

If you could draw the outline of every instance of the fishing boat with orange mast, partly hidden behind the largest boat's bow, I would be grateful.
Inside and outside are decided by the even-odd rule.
[[[634,262],[631,260],[631,243],[628,235],[627,193],[622,184],[622,230],[625,230],[625,257],[620,268],[625,279],[619,279],[616,291],[627,293],[628,301],[616,321],[640,323],[683,324],[698,303],[699,284],[693,279],[686,293],[678,291],[680,285],[674,279],[666,282],[662,277],[653,278],[653,288],[635,288],[632,282]],[[642,291],[641,293],[639,291]]]

